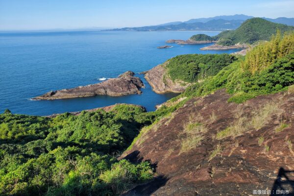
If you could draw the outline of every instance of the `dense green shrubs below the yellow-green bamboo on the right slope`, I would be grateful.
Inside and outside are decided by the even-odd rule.
[[[222,69],[217,75],[186,89],[182,96],[194,97],[226,88],[233,94],[229,101],[244,102],[258,95],[276,93],[294,84],[294,52],[279,58],[268,68],[255,74],[244,71],[240,61]]]

